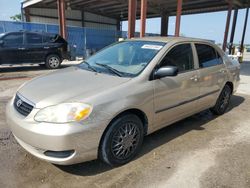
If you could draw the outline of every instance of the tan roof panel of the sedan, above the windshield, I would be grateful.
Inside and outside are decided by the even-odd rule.
[[[214,44],[211,40],[190,38],[190,37],[142,37],[142,38],[132,38],[131,41],[152,41],[152,42],[208,42]]]

